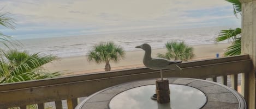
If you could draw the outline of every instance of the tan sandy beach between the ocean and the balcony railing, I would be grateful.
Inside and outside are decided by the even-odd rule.
[[[194,47],[195,57],[193,60],[211,59],[216,57],[216,53],[219,57],[223,56],[224,50],[230,46],[229,43],[218,43],[218,44],[205,44]],[[152,57],[156,57],[157,53],[165,53],[166,49],[152,49]],[[126,52],[125,59],[115,62],[110,62],[112,70],[125,69],[125,68],[136,68],[143,67],[142,59],[144,51],[138,49],[138,51]],[[51,72],[63,71],[69,74],[84,74],[91,72],[104,71],[105,63],[98,65],[96,62],[88,62],[86,56],[74,56],[61,58],[58,61],[44,66]]]

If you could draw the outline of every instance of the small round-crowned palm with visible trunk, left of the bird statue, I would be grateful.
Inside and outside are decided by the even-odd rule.
[[[96,61],[96,63],[106,63],[105,71],[110,71],[110,61],[119,61],[123,59],[125,52],[122,47],[117,46],[114,42],[99,43],[94,46],[93,49],[88,53],[89,61]]]

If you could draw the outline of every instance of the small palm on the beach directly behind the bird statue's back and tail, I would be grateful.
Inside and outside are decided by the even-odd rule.
[[[184,41],[177,42],[171,41],[165,44],[167,52],[165,54],[157,54],[158,57],[162,57],[168,60],[183,60],[187,61],[194,57],[193,47],[188,47]]]

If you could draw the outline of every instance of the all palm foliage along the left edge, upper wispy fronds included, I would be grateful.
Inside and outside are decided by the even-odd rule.
[[[8,13],[0,13],[0,25],[15,29],[14,19],[7,16]],[[29,54],[28,52],[19,52],[10,45],[15,47],[21,43],[13,40],[13,37],[5,35],[0,31],[0,43],[9,50],[5,51],[0,48],[0,84],[9,82],[19,82],[27,80],[38,80],[45,78],[53,78],[62,75],[60,72],[50,73],[42,66],[53,60],[57,60],[57,56],[41,55],[39,53]],[[1,46],[2,47],[2,46]],[[11,109],[18,109],[13,107]],[[27,108],[37,109],[37,105],[27,105]]]

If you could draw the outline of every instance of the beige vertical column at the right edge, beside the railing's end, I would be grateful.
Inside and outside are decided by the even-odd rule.
[[[256,0],[240,0],[242,3],[242,54],[249,54],[253,70],[245,74],[245,99],[248,108],[255,108],[255,63],[256,63]],[[248,66],[249,67],[249,66]]]

